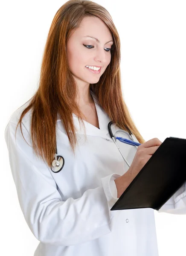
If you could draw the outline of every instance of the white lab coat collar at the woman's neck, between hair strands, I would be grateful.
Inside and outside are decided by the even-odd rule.
[[[90,135],[90,136],[102,137],[102,138],[109,139],[112,141],[112,139],[110,138],[110,135],[108,133],[108,123],[111,120],[108,117],[108,114],[103,110],[103,108],[101,106],[99,106],[99,102],[98,102],[95,94],[92,91],[90,91],[90,93],[93,96],[93,100],[95,103],[100,129],[97,128],[96,126],[90,124],[89,122],[83,120],[85,129],[86,129],[86,134]],[[58,118],[57,121],[61,121],[61,119]],[[85,134],[81,123],[78,121],[78,117],[74,113],[73,113],[73,121],[74,121],[74,125],[76,128],[76,133],[77,134]],[[59,126],[60,130],[64,131],[64,128],[62,127],[61,122],[58,122],[58,126]]]

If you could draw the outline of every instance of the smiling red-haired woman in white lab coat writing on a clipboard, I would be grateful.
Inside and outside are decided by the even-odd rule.
[[[20,207],[40,241],[34,256],[158,255],[153,209],[110,211],[161,144],[145,142],[134,125],[119,64],[119,35],[108,11],[87,0],[61,6],[38,90],[5,130]],[[130,168],[109,136],[111,120],[113,133],[130,129],[142,143],[137,151],[120,143]],[[56,147],[64,166],[55,173]],[[180,213],[184,193],[182,186],[160,210]]]

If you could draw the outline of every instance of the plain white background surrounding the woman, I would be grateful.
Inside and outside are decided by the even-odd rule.
[[[23,218],[9,167],[4,130],[38,87],[52,19],[66,1],[4,1],[0,6],[1,247],[5,256],[33,256],[38,240]],[[121,40],[122,88],[144,139],[186,138],[186,1],[97,0]],[[160,256],[186,255],[186,215],[155,211]]]

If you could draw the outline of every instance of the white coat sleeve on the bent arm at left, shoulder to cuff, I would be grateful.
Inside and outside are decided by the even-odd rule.
[[[63,201],[49,167],[35,156],[26,127],[22,123],[26,141],[20,125],[15,140],[15,128],[16,124],[9,121],[5,140],[19,204],[33,235],[44,243],[69,246],[112,232],[117,211],[110,209],[118,198],[112,196],[110,180],[120,175],[103,177],[102,186],[88,189],[80,198]]]

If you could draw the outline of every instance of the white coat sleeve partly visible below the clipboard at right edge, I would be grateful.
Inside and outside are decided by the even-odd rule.
[[[186,182],[157,212],[186,214]]]

